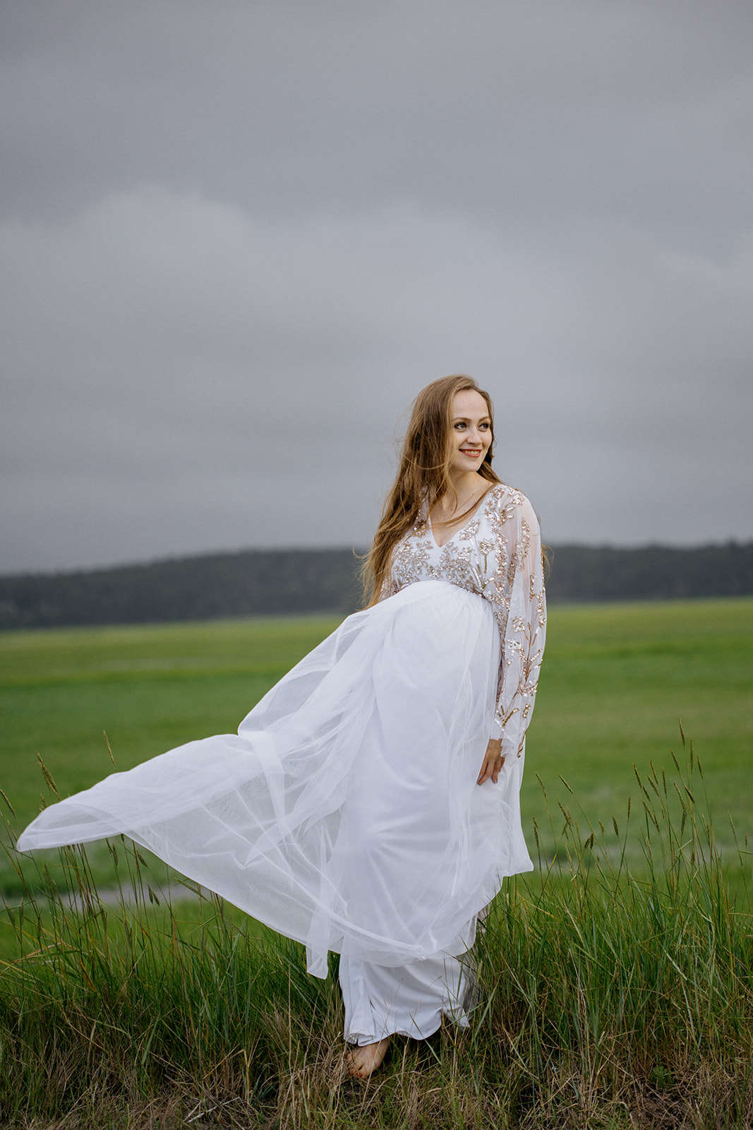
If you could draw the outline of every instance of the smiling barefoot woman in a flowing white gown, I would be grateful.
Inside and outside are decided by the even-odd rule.
[[[19,850],[121,833],[268,925],[340,957],[352,1075],[389,1037],[467,1025],[463,955],[531,870],[525,731],[544,646],[539,523],[491,468],[488,393],[419,394],[365,574],[369,607],[237,734],[192,741],[46,808]]]

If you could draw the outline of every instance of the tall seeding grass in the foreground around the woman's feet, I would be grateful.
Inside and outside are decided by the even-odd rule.
[[[155,918],[139,853],[117,842],[135,903],[97,896],[62,855],[76,910],[49,886],[8,913],[0,1118],[26,1130],[518,1128],[753,1124],[753,931],[730,899],[689,747],[637,781],[645,868],[628,827],[584,838],[552,811],[557,862],[510,880],[478,946],[467,1032],[395,1040],[368,1085],[341,1078],[342,1007],[299,946],[260,938],[218,899]],[[618,846],[615,852],[614,846]]]

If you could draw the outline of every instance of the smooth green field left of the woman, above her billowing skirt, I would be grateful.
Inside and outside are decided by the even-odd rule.
[[[106,741],[124,770],[193,738],[233,732],[336,623],[296,617],[0,634],[0,789],[15,827],[50,800],[37,750],[64,797],[113,771]],[[107,852],[93,849],[90,857],[97,881],[112,884]],[[0,892],[19,889],[0,858]]]

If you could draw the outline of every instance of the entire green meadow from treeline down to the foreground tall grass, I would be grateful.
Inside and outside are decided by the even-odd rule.
[[[0,635],[9,845],[52,799],[37,750],[64,796],[233,731],[334,624]],[[166,902],[126,843],[8,851],[1,1124],[753,1125],[752,660],[750,599],[551,610],[522,798],[536,870],[490,916],[470,1032],[396,1042],[368,1087],[341,1083],[333,979],[294,944]]]

